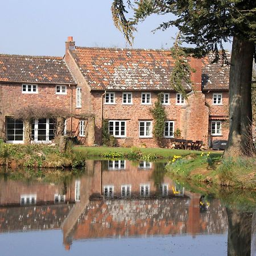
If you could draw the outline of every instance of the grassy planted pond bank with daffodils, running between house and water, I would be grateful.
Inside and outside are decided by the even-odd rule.
[[[5,169],[16,170],[24,167],[31,173],[40,173],[45,168],[57,168],[60,171],[69,170],[76,173],[86,166],[87,159],[108,159],[113,168],[122,166],[122,163],[126,162],[123,159],[133,160],[135,166],[140,162],[153,163],[170,177],[227,187],[256,189],[256,160],[222,159],[220,152],[72,145],[62,152],[56,145],[0,144],[0,164],[5,166]]]

